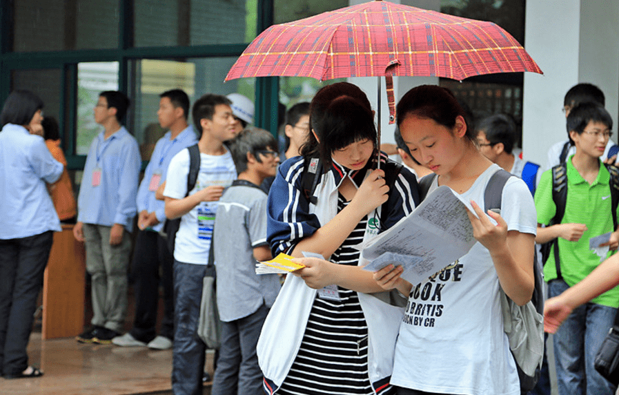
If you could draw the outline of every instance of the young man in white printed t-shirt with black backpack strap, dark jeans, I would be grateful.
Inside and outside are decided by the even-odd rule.
[[[217,201],[237,177],[232,155],[224,146],[236,134],[230,104],[224,96],[208,94],[193,105],[193,122],[202,137],[197,144],[199,173],[191,191],[187,191],[188,148],[177,153],[168,166],[166,217],[181,218],[174,248],[174,394],[202,392],[206,345],[197,336],[202,279],[213,270],[207,265]]]

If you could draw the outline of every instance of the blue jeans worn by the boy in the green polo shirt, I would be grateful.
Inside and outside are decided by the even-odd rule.
[[[549,282],[549,296],[569,288],[563,280]],[[613,395],[616,387],[600,376],[593,360],[613,326],[617,309],[586,303],[572,311],[553,337],[560,395]]]

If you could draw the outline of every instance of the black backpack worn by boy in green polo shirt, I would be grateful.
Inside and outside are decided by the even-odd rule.
[[[611,164],[605,164],[610,173],[609,186],[611,189],[611,215],[613,216],[613,229],[617,229],[617,204],[619,203],[619,168]],[[550,225],[560,224],[565,214],[565,202],[567,201],[567,164],[562,162],[552,168],[552,200],[556,206],[555,216],[550,220]],[[554,246],[554,248],[552,248]],[[542,244],[542,262],[546,263],[550,251],[553,251],[557,278],[562,278],[559,259],[558,238]]]

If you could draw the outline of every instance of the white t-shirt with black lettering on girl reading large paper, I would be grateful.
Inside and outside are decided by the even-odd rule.
[[[484,207],[486,185],[498,169],[491,165],[462,198]],[[517,177],[504,186],[501,216],[509,231],[536,234],[533,197]],[[479,242],[430,280],[413,285],[395,345],[391,384],[442,394],[520,395],[503,331],[498,275]]]

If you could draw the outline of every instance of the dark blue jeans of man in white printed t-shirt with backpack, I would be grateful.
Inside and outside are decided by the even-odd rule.
[[[206,345],[197,334],[204,276],[214,269],[206,264],[174,260],[174,347],[172,389],[174,395],[202,395]]]

